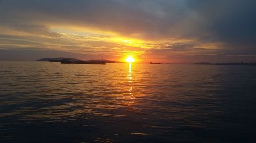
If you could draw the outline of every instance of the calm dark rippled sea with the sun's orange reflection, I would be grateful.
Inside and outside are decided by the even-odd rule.
[[[0,142],[255,142],[256,66],[0,62]]]

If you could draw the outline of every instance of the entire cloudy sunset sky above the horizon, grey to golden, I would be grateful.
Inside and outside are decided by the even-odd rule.
[[[256,62],[255,0],[0,0],[0,61]]]

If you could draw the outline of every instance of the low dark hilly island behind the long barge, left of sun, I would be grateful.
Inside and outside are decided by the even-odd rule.
[[[80,59],[76,59],[76,58],[66,58],[66,57],[58,57],[58,58],[41,58],[38,59],[36,61],[49,61],[49,62],[60,62],[62,59],[70,59],[70,61],[83,61]],[[91,59],[91,60],[86,60],[88,62],[91,61],[105,61],[106,63],[121,63],[118,61],[111,61],[111,60],[105,60],[105,59]]]

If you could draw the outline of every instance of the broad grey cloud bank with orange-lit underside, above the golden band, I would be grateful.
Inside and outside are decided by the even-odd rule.
[[[187,9],[185,1],[10,0],[2,6],[1,18],[7,25],[87,27],[147,40],[194,38],[203,33],[203,25],[195,22],[200,17]]]

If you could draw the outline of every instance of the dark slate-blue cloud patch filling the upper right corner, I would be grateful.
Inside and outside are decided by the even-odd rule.
[[[255,45],[256,1],[190,1],[189,6],[208,21],[207,30],[218,41]]]

